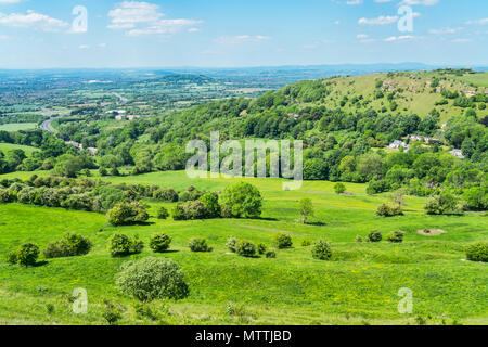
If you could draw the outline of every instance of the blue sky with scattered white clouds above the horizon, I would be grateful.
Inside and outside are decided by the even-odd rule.
[[[486,0],[0,0],[0,69],[488,65],[487,37]]]

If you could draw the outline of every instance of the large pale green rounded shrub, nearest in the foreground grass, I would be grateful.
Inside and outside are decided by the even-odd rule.
[[[182,299],[190,293],[180,266],[165,258],[126,262],[116,275],[116,284],[123,293],[141,301]]]

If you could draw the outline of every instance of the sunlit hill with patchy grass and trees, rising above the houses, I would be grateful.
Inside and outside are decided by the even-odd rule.
[[[191,107],[164,116],[162,123],[167,142],[174,141],[175,134],[179,139],[205,138],[211,130],[234,138],[299,138],[320,128],[324,118],[335,119],[334,131],[354,131],[360,130],[361,118],[375,123],[387,115],[387,123],[413,115],[421,119],[434,116],[426,120],[428,126],[413,128],[434,134],[448,119],[464,116],[470,110],[477,119],[486,118],[487,93],[488,73],[470,69],[332,77],[299,81],[253,100],[231,99]],[[325,128],[332,129],[330,125]],[[395,124],[381,128],[389,132]]]

